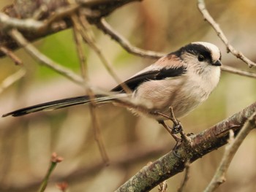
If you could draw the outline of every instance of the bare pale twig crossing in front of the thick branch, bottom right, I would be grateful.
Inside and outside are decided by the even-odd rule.
[[[225,154],[223,155],[222,161],[219,164],[217,171],[214,174],[214,177],[211,180],[211,183],[207,186],[204,192],[211,192],[216,190],[219,185],[225,182],[225,174],[227,173],[227,169],[230,166],[230,163],[238,150],[238,147],[244,141],[249,131],[253,128],[256,128],[256,112],[254,112],[246,123],[244,123],[243,128],[239,131],[237,137],[232,139],[232,132],[231,132],[231,139],[229,144],[225,148]]]

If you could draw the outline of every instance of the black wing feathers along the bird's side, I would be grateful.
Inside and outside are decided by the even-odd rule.
[[[150,72],[145,72],[142,74],[138,74],[135,77],[126,80],[124,83],[128,86],[131,91],[135,91],[138,86],[149,80],[164,80],[168,77],[177,77],[187,72],[186,67],[180,66],[176,68],[164,68],[161,70],[155,70]],[[111,91],[121,91],[124,92],[124,89],[121,85],[116,86]]]

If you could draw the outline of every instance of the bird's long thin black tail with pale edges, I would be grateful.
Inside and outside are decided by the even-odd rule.
[[[113,96],[105,96],[105,95],[95,95],[94,99],[97,103],[102,103],[102,102],[108,102],[113,99],[118,99],[121,96],[121,94],[118,95],[113,95]],[[122,97],[122,96],[121,96]],[[48,111],[48,110],[57,110],[60,108],[64,107],[69,107],[72,105],[77,105],[77,104],[86,104],[89,103],[91,99],[89,96],[78,96],[78,97],[71,97],[67,99],[59,99],[56,101],[50,101],[42,104],[36,104],[31,107],[25,107],[20,110],[15,110],[13,112],[8,112],[2,117],[7,117],[9,115],[12,115],[13,117],[18,117],[22,115],[29,114],[31,112],[39,112],[39,111]]]

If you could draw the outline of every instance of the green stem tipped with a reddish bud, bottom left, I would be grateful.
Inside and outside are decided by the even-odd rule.
[[[45,188],[48,185],[50,174],[52,174],[57,164],[60,163],[61,161],[63,161],[63,158],[59,157],[56,153],[52,154],[48,172],[46,173],[45,178],[42,180],[42,183],[39,187],[39,192],[45,191]]]

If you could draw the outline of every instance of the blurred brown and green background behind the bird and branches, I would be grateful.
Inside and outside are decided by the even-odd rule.
[[[0,7],[7,4],[10,1],[2,0]],[[256,61],[256,1],[211,0],[206,6],[231,45]],[[169,53],[189,42],[211,42],[222,50],[223,64],[256,72],[227,54],[217,34],[203,20],[197,1],[134,2],[117,9],[106,20],[137,47]],[[94,26],[91,26],[91,31],[122,80],[154,62],[127,53]],[[54,61],[80,74],[71,29],[40,39],[34,45]],[[105,91],[113,88],[116,82],[97,55],[87,45],[85,50],[91,84]],[[85,94],[83,87],[40,66],[24,50],[15,53],[22,59],[26,75],[1,92],[1,114],[32,104]],[[1,81],[20,69],[10,58],[1,58],[0,62]],[[256,100],[255,85],[255,79],[222,72],[219,85],[210,98],[181,119],[185,131],[197,134],[252,104]],[[110,104],[97,107],[97,115],[110,158],[109,166],[103,163],[94,139],[89,107],[76,106],[20,118],[1,118],[0,191],[36,191],[53,152],[64,161],[54,170],[46,191],[59,191],[56,183],[63,181],[68,183],[68,191],[114,191],[148,162],[157,160],[173,148],[173,139],[155,120],[136,117],[124,108]],[[238,150],[227,172],[227,181],[217,191],[256,190],[255,144],[255,131],[252,131]],[[224,147],[191,165],[185,191],[197,192],[206,188],[223,152]],[[184,173],[180,173],[167,180],[167,191],[177,191],[183,177]],[[157,188],[152,191],[157,191]]]

